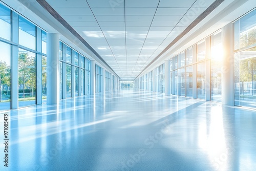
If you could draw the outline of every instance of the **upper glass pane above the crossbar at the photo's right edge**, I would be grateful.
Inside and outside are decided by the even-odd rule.
[[[256,44],[256,10],[237,20],[234,24],[234,49]]]

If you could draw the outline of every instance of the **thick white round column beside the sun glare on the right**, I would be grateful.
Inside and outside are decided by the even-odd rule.
[[[222,28],[222,104],[234,105],[233,24]]]

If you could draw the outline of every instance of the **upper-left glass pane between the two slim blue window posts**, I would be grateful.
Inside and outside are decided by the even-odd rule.
[[[18,28],[19,45],[35,50],[35,25],[19,16]]]

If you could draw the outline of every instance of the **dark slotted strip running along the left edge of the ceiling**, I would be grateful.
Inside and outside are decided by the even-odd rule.
[[[55,11],[52,6],[50,6],[45,0],[36,0],[37,3],[39,3],[42,7],[46,9],[47,12],[49,12],[55,19],[58,20],[58,22],[63,25],[66,29],[68,29],[78,40],[82,42],[84,46],[86,46],[90,51],[92,51],[109,69],[117,76],[119,77],[116,72],[108,65],[108,63],[105,62],[105,60],[88,44],[86,40],[82,38],[80,34],[78,34],[75,29],[66,22],[64,18],[62,18],[57,11]],[[120,78],[120,77],[119,77]]]

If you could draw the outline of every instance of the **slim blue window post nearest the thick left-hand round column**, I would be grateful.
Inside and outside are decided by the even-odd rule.
[[[42,51],[41,29],[36,28],[36,50]],[[42,103],[42,55],[36,54],[36,104]]]

